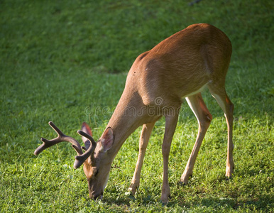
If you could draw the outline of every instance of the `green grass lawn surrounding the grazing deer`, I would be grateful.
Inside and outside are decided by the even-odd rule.
[[[0,1],[1,212],[274,212],[274,60],[271,1]],[[99,138],[134,59],[192,23],[224,31],[234,52],[226,88],[235,105],[234,178],[226,180],[226,122],[214,119],[187,186],[177,185],[197,121],[187,104],[170,152],[171,199],[160,203],[164,119],[150,138],[135,197],[127,188],[137,155],[136,130],[112,165],[102,201],[88,198],[75,151],[60,143],[38,157],[52,120],[75,138],[82,121]]]

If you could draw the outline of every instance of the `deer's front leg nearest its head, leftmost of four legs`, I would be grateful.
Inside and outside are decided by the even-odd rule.
[[[148,146],[148,140],[150,138],[150,133],[153,130],[155,122],[150,124],[143,124],[142,133],[139,141],[139,153],[138,160],[136,163],[136,168],[133,174],[133,178],[131,180],[131,185],[128,187],[128,190],[131,191],[132,195],[135,194],[137,187],[140,185],[140,176],[141,176],[141,168],[143,165],[143,158],[145,157],[146,148]]]

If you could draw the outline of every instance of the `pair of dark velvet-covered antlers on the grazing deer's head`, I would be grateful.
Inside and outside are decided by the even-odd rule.
[[[60,129],[57,128],[57,126],[55,126],[55,124],[53,124],[52,121],[48,122],[48,124],[51,126],[51,128],[54,129],[54,131],[58,134],[58,136],[57,138],[54,138],[52,140],[41,138],[41,141],[43,141],[43,144],[35,149],[34,154],[38,155],[39,153],[44,151],[46,148],[49,148],[50,146],[53,146],[57,143],[60,143],[63,141],[70,142],[72,143],[72,148],[74,148],[78,154],[77,156],[75,156],[75,163],[73,164],[73,168],[75,169],[80,168],[80,166],[84,163],[84,161],[87,160],[87,158],[89,158],[89,156],[94,153],[94,150],[96,148],[97,143],[94,141],[92,136],[89,136],[89,134],[84,133],[83,131],[80,131],[80,130],[77,131],[77,133],[80,134],[80,136],[86,137],[92,144],[92,146],[89,146],[89,148],[81,147],[80,143],[77,140],[75,140],[75,138],[66,136],[64,133],[62,133],[62,131],[60,131]],[[82,149],[85,150],[84,153]]]

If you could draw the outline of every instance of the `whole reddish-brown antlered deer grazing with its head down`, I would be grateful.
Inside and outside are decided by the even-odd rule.
[[[226,117],[228,128],[226,177],[229,178],[234,170],[232,157],[234,105],[225,89],[230,58],[231,42],[222,31],[206,23],[188,26],[136,58],[128,72],[124,92],[99,141],[94,141],[89,126],[83,124],[82,130],[78,131],[85,145],[81,147],[74,138],[65,136],[50,122],[50,126],[55,129],[58,136],[53,140],[41,138],[43,144],[35,150],[35,155],[61,141],[72,143],[72,147],[77,151],[74,168],[79,168],[83,164],[89,197],[101,198],[116,154],[126,138],[138,126],[143,125],[136,169],[129,186],[129,190],[134,195],[140,184],[141,167],[150,133],[155,122],[161,116],[165,116],[162,145],[163,187],[160,200],[166,203],[170,196],[168,158],[182,99],[187,100],[199,124],[194,148],[180,178],[180,182],[187,184],[204,135],[212,121],[212,115],[200,93],[204,87],[207,87]]]

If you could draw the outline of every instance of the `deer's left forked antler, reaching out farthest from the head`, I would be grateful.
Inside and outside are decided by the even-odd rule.
[[[46,148],[49,148],[50,146],[53,146],[56,143],[60,143],[62,141],[72,143],[72,148],[75,149],[75,151],[78,153],[78,155],[82,155],[83,151],[81,149],[80,143],[77,140],[75,140],[75,138],[66,136],[64,133],[62,133],[62,131],[60,131],[60,129],[57,128],[57,126],[55,126],[55,124],[53,124],[52,121],[48,122],[48,124],[51,126],[51,128],[54,129],[54,131],[58,134],[58,136],[52,140],[41,138],[41,141],[43,141],[43,144],[35,149],[35,151],[34,151],[35,155],[38,155],[39,153],[44,151]]]

